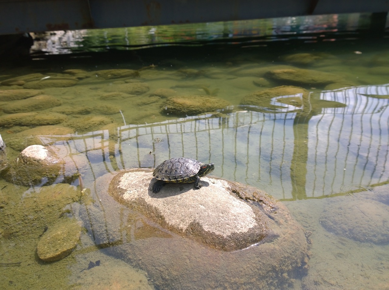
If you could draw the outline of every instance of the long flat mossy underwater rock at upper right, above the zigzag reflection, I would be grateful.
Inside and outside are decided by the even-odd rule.
[[[333,73],[326,73],[314,69],[274,69],[266,73],[266,77],[272,78],[275,81],[294,83],[298,85],[327,85],[336,83],[343,78]]]

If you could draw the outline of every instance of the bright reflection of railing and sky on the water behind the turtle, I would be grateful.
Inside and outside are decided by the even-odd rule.
[[[56,144],[68,146],[69,154],[84,154],[93,179],[187,156],[212,161],[213,175],[258,186],[276,198],[317,198],[356,189],[352,184],[389,180],[388,95],[388,85],[324,91],[322,100],[347,106],[188,117],[73,135],[71,140],[67,136]],[[42,138],[49,143],[49,136]]]

